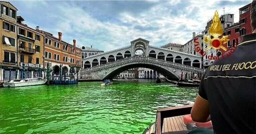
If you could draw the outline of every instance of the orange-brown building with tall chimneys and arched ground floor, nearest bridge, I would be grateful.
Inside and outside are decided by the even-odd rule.
[[[62,40],[62,33],[58,32],[59,37],[40,30],[37,31],[44,34],[44,67],[50,63],[53,74],[75,74],[76,70],[81,68],[81,49],[76,47],[76,40],[73,39],[73,45]]]

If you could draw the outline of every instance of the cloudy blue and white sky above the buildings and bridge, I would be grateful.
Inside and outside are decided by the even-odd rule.
[[[234,14],[251,1],[11,1],[25,24],[77,46],[110,51],[143,38],[150,45],[185,44],[214,15]]]

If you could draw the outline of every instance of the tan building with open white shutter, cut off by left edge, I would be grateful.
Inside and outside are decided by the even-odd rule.
[[[10,2],[0,1],[0,82],[16,79],[17,62],[17,11]]]

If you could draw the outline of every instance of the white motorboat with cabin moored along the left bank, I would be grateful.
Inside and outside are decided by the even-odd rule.
[[[34,85],[43,85],[47,82],[42,77],[34,77],[27,79],[15,79],[11,80],[8,83],[3,83],[4,87],[22,87],[22,86],[34,86]]]

